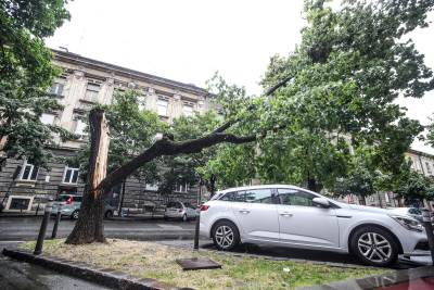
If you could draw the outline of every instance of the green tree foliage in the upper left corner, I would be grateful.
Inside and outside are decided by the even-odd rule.
[[[42,113],[61,110],[47,92],[59,72],[43,39],[69,18],[65,3],[0,1],[0,168],[7,157],[47,165],[51,154],[46,146],[56,144],[52,136],[72,137],[40,122]]]

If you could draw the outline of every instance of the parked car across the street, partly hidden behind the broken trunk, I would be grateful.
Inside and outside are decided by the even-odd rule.
[[[62,217],[69,217],[71,219],[77,219],[80,212],[82,196],[78,194],[60,194],[53,202],[53,209],[51,210],[51,216],[58,214],[58,207],[62,205],[61,215]],[[113,217],[115,211],[114,206],[104,204],[104,217]]]

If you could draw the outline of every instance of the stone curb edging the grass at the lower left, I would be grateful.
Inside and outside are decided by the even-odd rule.
[[[110,268],[93,268],[85,263],[75,263],[64,259],[48,255],[34,255],[27,251],[3,249],[3,255],[42,266],[62,274],[95,282],[105,287],[123,290],[190,290],[191,288],[177,288],[164,282],[133,278],[127,274]]]

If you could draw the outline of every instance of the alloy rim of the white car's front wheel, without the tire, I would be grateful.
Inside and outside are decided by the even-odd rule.
[[[374,263],[386,262],[392,255],[392,245],[386,238],[376,232],[365,232],[358,242],[359,252]]]

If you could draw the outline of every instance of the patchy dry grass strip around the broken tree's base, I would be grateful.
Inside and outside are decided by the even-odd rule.
[[[26,242],[21,247],[33,250],[35,242]],[[239,257],[118,239],[85,245],[65,244],[63,239],[47,240],[43,252],[71,261],[86,262],[95,267],[123,270],[140,278],[154,278],[169,285],[195,289],[295,289],[384,273],[384,269],[368,267],[340,268],[309,262]],[[183,272],[175,262],[177,259],[201,256],[220,263],[222,268]],[[289,272],[283,268],[289,268]]]

